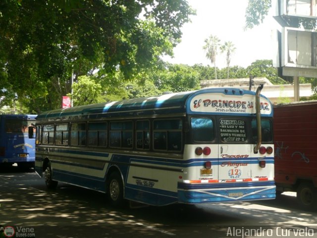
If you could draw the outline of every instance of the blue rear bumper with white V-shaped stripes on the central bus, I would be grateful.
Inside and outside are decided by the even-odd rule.
[[[275,198],[274,181],[178,184],[178,202],[199,204],[228,201],[265,200]]]

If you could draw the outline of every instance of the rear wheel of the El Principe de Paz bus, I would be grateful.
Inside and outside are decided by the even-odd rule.
[[[107,197],[110,204],[114,207],[123,207],[125,205],[123,194],[123,182],[120,174],[111,173],[107,182]]]

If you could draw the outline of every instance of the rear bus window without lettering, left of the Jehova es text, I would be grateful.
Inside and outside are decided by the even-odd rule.
[[[214,140],[212,119],[192,118],[192,135],[195,142],[211,142]]]

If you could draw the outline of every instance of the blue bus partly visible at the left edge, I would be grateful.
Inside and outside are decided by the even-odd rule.
[[[35,139],[28,129],[37,115],[0,115],[0,165],[34,167]]]

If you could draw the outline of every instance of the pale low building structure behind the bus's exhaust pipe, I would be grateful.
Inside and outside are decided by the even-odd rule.
[[[201,87],[234,87],[249,89],[249,82],[249,78],[201,80]],[[251,90],[256,91],[260,84],[264,84],[261,94],[267,97],[274,104],[295,101],[294,86],[292,84],[273,85],[267,78],[257,77],[253,79],[253,86]],[[312,95],[313,91],[310,83],[300,84],[300,97],[310,97]]]

